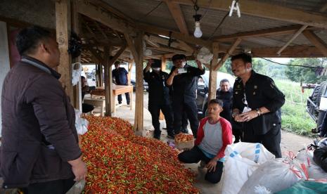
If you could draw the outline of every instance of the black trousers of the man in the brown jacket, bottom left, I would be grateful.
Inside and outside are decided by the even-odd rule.
[[[74,179],[49,181],[44,183],[33,183],[27,188],[20,188],[24,194],[62,194],[67,193],[74,185]]]

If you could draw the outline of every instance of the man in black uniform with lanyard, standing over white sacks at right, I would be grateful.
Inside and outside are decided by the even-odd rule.
[[[270,77],[252,70],[252,57],[247,53],[231,57],[231,70],[238,77],[233,86],[232,117],[243,122],[244,141],[262,143],[281,157],[278,110],[285,103],[285,96]]]

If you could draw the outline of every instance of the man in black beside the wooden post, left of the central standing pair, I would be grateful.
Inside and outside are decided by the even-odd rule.
[[[152,65],[151,65],[152,64]],[[154,138],[160,139],[160,110],[165,115],[167,134],[169,138],[174,137],[173,115],[169,101],[169,87],[166,85],[168,74],[160,69],[161,60],[149,60],[143,70],[144,80],[148,82],[148,110],[152,116],[152,124],[155,128]],[[150,72],[152,68],[152,72]]]

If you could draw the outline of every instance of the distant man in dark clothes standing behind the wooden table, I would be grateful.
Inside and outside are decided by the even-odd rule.
[[[128,79],[127,79],[127,70],[125,70],[124,67],[120,67],[120,62],[115,62],[115,70],[113,70],[113,82],[116,85],[122,85],[127,86],[128,85]],[[129,93],[125,93],[127,105],[130,103]],[[118,95],[118,103],[122,103],[122,94]]]

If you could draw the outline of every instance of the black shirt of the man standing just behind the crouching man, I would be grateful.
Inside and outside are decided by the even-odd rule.
[[[233,89],[230,88],[229,91],[221,91],[220,89],[216,92],[216,98],[222,100],[223,111],[220,116],[231,122],[231,101],[233,100]]]

